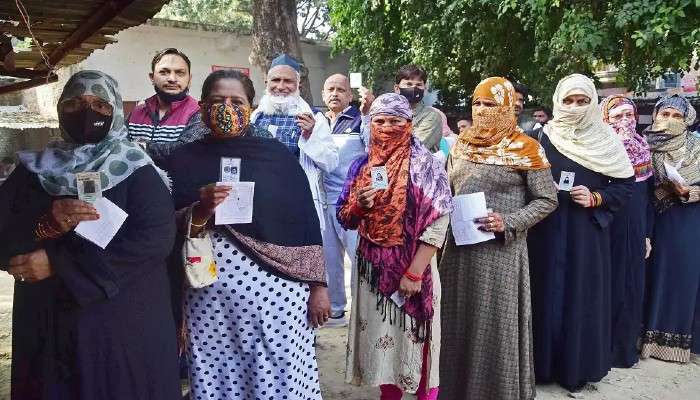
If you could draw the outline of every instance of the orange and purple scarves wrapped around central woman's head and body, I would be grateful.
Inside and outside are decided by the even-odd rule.
[[[370,115],[410,118],[410,110],[406,98],[392,93],[379,96],[372,104]],[[362,240],[357,249],[358,271],[377,294],[380,314],[388,317],[389,323],[406,324],[407,329],[404,317],[408,315],[414,340],[422,341],[429,337],[428,327],[434,312],[430,267],[426,266],[420,293],[407,299],[400,310],[389,298],[398,290],[401,277],[411,266],[420,235],[438,218],[452,211],[452,195],[442,163],[410,134],[410,125],[407,132],[402,129],[393,134],[372,131],[369,154],[350,166],[338,198],[337,217],[345,227],[357,218],[353,211],[357,191],[370,185],[371,167],[382,165],[381,160],[386,158],[389,189],[379,192],[374,206],[360,217]],[[408,163],[404,160],[406,156]]]

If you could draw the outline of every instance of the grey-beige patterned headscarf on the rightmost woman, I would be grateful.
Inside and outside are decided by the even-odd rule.
[[[667,107],[682,112],[683,121],[657,120],[658,111]],[[700,138],[688,132],[688,121],[695,120],[695,108],[683,97],[674,95],[662,98],[654,106],[653,117],[654,123],[644,134],[649,141],[654,175],[657,177],[654,203],[657,210],[665,211],[678,199],[663,186],[668,180],[664,164],[677,167],[687,185],[700,182]]]

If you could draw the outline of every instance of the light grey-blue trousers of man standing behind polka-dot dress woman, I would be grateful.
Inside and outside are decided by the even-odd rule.
[[[338,315],[345,311],[345,253],[350,257],[351,272],[354,274],[357,251],[357,231],[346,231],[335,216],[335,204],[324,209],[326,227],[323,237],[323,255],[326,259],[328,293],[331,299],[331,313]]]

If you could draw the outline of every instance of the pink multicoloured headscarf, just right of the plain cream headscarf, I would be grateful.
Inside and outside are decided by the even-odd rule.
[[[610,111],[623,105],[630,105],[634,109],[633,120],[622,120],[616,123],[610,122]],[[653,174],[651,168],[651,154],[649,153],[649,144],[644,136],[637,133],[637,120],[639,113],[637,105],[623,95],[612,95],[603,99],[600,103],[600,110],[603,113],[603,121],[610,125],[615,133],[622,139],[622,144],[627,150],[627,156],[632,162],[634,175],[637,182],[647,180]]]

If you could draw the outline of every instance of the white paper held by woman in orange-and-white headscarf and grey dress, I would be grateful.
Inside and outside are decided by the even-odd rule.
[[[450,223],[457,246],[485,242],[496,237],[493,232],[479,230],[479,225],[474,222],[475,218],[488,215],[484,192],[461,194],[452,200],[455,208],[450,216]]]

